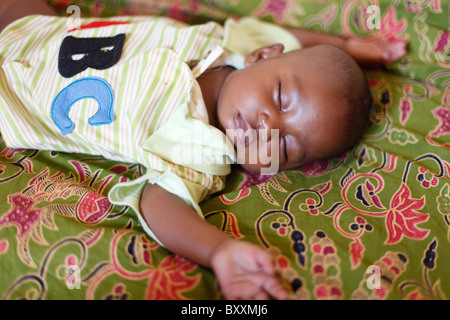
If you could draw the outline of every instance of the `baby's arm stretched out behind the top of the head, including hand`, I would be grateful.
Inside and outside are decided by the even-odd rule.
[[[332,44],[346,51],[356,62],[362,65],[394,62],[406,53],[406,41],[402,40],[389,42],[380,38],[346,39],[313,31],[288,30],[305,48],[319,44]]]

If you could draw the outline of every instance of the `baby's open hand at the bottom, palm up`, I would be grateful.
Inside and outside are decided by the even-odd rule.
[[[230,239],[211,255],[211,265],[227,299],[286,299],[275,279],[272,255],[257,245]]]

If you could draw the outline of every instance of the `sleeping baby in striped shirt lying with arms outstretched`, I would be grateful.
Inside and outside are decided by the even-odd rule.
[[[273,257],[207,223],[199,203],[223,189],[233,163],[273,174],[352,147],[372,101],[357,62],[392,62],[404,44],[253,18],[87,18],[69,28],[51,14],[44,2],[0,5],[5,143],[141,164],[143,176],[110,190],[112,203],[211,268],[226,298],[286,298]]]

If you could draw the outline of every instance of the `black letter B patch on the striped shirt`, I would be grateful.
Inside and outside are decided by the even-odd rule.
[[[124,42],[123,33],[105,38],[67,36],[59,50],[59,73],[70,78],[87,68],[108,69],[120,59]]]

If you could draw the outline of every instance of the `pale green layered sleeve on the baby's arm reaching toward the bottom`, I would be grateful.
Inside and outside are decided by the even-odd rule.
[[[195,97],[200,94],[199,90],[199,87],[193,87],[191,104],[197,103]],[[137,213],[144,231],[163,245],[140,211],[139,204],[146,184],[157,184],[176,195],[203,218],[199,203],[206,196],[223,189],[223,179],[231,171],[230,163],[235,161],[234,148],[218,129],[194,119],[185,103],[145,141],[143,149],[165,161],[166,170],[147,167],[147,173],[138,179],[115,185],[108,197],[113,204],[131,207]],[[188,157],[188,162],[192,163],[184,167],[181,165],[183,154],[198,158]]]

